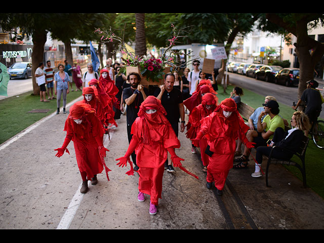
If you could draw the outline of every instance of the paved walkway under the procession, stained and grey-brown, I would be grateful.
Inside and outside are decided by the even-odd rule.
[[[71,105],[71,104],[70,104]],[[67,107],[68,110],[69,106]],[[137,200],[138,175],[116,166],[115,159],[128,148],[126,116],[117,121],[105,158],[110,181],[105,173],[98,184],[79,193],[78,172],[73,142],[70,155],[55,157],[62,145],[64,122],[68,114],[55,113],[30,126],[12,140],[0,145],[0,228],[2,229],[229,229],[221,205],[213,191],[206,188],[199,154],[179,134],[181,148],[176,153],[185,159],[183,166],[199,180],[176,168],[165,171],[158,213],[148,213],[149,196]],[[188,116],[186,115],[186,120]],[[266,161],[262,164],[265,171]],[[237,196],[259,229],[324,229],[323,199],[281,166],[271,166],[269,182],[252,178],[254,163],[246,170],[231,170],[223,200]],[[233,197],[232,197],[233,198]],[[229,208],[232,213],[236,208]]]

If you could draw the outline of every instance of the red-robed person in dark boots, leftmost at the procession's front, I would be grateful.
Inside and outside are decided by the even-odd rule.
[[[88,180],[91,184],[97,184],[97,174],[106,170],[106,176],[109,181],[108,171],[110,171],[104,161],[106,151],[103,146],[103,133],[101,123],[96,116],[95,109],[91,105],[82,101],[75,102],[71,108],[69,116],[64,125],[66,137],[62,147],[54,149],[57,151],[57,157],[61,157],[66,151],[67,145],[73,141],[77,166],[82,177],[81,193],[88,191]]]

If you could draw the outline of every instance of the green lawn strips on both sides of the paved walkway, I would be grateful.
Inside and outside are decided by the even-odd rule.
[[[223,93],[222,87],[219,85],[219,102],[225,98],[229,98],[229,94],[233,86],[228,86],[226,94]],[[264,102],[264,97],[255,94],[249,90],[244,90],[244,96],[241,101],[248,105],[257,108]],[[39,96],[30,94],[31,92],[21,94],[19,97],[10,97],[0,100],[0,144],[4,143],[11,137],[23,131],[30,125],[34,124],[37,120],[56,111],[56,100],[50,102],[40,102]],[[81,96],[80,91],[70,92],[67,95],[67,103]],[[61,100],[61,106],[63,101]],[[47,113],[27,113],[32,109],[49,109]],[[279,103],[280,115],[287,120],[290,120],[294,110],[291,106]],[[307,185],[312,188],[317,194],[324,198],[324,163],[323,163],[324,150],[315,147],[312,140],[310,140],[306,151],[306,179]],[[284,168],[283,168],[284,169]],[[291,173],[302,179],[300,172],[295,167],[287,167]]]

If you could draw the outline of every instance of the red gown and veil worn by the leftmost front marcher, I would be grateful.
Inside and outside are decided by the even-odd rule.
[[[82,114],[82,123],[76,124],[69,116],[65,121],[64,131],[66,139],[73,141],[79,171],[86,172],[88,180],[91,180],[94,175],[100,174],[105,166],[99,154],[99,147],[103,146],[103,133],[95,111],[90,105],[83,105],[87,106],[87,111]],[[73,106],[70,108],[70,114],[71,112]]]

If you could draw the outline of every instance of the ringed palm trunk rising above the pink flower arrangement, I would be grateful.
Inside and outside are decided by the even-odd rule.
[[[146,55],[145,37],[145,14],[135,14],[136,33],[135,33],[135,54],[137,56]]]

